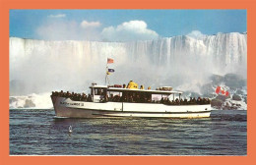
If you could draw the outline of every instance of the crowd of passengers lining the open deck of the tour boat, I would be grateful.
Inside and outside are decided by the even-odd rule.
[[[85,102],[93,102],[93,97],[91,94],[85,94],[83,93],[70,93],[69,91],[63,92],[61,90],[58,91],[52,91],[52,96],[59,96],[59,97],[66,97],[70,98],[73,101],[85,101]],[[105,95],[104,97],[101,97],[99,102],[132,102],[132,103],[161,103],[166,105],[193,105],[193,104],[210,104],[211,101],[209,98],[201,98],[198,97],[197,99],[195,97],[190,97],[190,99],[178,99],[170,100],[168,97],[161,97],[160,100],[152,100],[150,96],[140,96],[139,94],[133,96],[133,95],[113,95],[110,94],[110,97]]]

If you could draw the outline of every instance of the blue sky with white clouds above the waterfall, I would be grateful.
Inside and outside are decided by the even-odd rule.
[[[130,41],[247,31],[246,10],[10,10],[10,36]]]

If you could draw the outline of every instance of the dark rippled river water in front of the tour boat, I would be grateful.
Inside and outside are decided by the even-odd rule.
[[[204,119],[55,119],[52,109],[15,109],[10,110],[10,154],[246,155],[246,113],[213,111]]]

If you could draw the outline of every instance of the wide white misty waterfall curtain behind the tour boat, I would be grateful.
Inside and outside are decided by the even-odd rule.
[[[110,83],[133,80],[145,86],[175,87],[207,82],[211,74],[235,73],[246,79],[247,73],[247,34],[238,32],[133,42],[10,37],[9,44],[11,96],[87,91],[92,82],[104,83],[107,57],[114,59],[109,65],[115,69]]]

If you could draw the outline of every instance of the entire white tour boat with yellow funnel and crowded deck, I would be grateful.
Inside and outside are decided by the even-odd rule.
[[[170,86],[145,89],[130,82],[115,85],[92,83],[91,93],[52,92],[57,117],[68,118],[205,118],[210,117],[209,98],[181,98]]]

